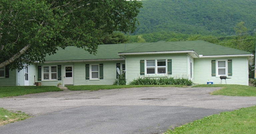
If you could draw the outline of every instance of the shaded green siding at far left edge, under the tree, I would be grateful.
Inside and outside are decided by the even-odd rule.
[[[9,78],[0,78],[0,86],[16,85],[16,70],[9,70]]]

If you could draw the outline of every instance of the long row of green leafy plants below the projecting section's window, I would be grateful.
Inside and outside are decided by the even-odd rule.
[[[130,82],[130,85],[187,85],[192,86],[193,82],[186,78],[176,78],[173,77],[139,77]]]

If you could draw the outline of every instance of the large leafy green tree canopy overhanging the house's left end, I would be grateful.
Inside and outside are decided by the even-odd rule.
[[[103,35],[134,32],[136,0],[0,0],[0,68],[44,62],[58,47],[96,54]]]

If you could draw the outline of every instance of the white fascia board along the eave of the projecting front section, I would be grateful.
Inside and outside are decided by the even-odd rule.
[[[197,57],[199,57],[199,55],[193,50],[189,50],[189,51],[161,51],[161,52],[132,52],[132,53],[118,53],[117,55],[171,54],[171,53],[195,53],[195,55],[197,55]]]

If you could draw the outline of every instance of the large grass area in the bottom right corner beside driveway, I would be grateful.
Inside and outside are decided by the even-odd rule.
[[[221,112],[187,123],[164,134],[255,134],[256,106]]]

